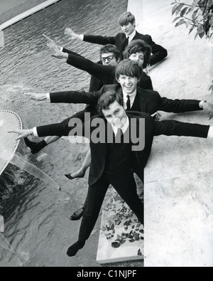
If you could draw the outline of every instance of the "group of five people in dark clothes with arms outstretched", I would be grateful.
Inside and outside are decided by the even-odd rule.
[[[206,125],[158,120],[158,110],[174,113],[204,110],[211,117],[213,105],[205,100],[160,97],[143,68],[159,63],[167,51],[155,44],[151,36],[136,31],[135,18],[130,12],[121,15],[119,24],[123,32],[116,37],[78,35],[70,28],[65,29],[72,39],[104,45],[98,63],[46,37],[55,58],[65,58],[68,64],[92,75],[89,92],[70,90],[28,95],[33,100],[81,103],[87,107],[61,123],[15,131],[20,134],[18,139],[25,139],[33,154],[62,136],[80,135],[89,139],[89,152],[82,168],[66,175],[69,179],[84,176],[90,166],[87,199],[84,207],[71,217],[73,220],[82,217],[82,223],[77,242],[67,250],[70,257],[84,247],[92,233],[109,184],[143,224],[143,203],[138,198],[133,174],[143,181],[154,136],[213,137],[212,127]],[[31,135],[45,139],[31,142],[28,139]]]

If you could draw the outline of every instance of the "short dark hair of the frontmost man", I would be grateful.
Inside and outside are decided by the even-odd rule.
[[[99,97],[99,100],[97,102],[97,110],[100,114],[103,115],[102,110],[109,110],[109,105],[111,105],[113,102],[119,102],[119,105],[124,106],[124,100],[123,97],[118,95],[114,91],[107,91],[104,92],[101,97]]]

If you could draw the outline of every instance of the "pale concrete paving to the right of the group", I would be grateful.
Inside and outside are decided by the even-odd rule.
[[[139,5],[139,2],[141,5]],[[167,48],[168,58],[151,69],[161,96],[213,102],[212,45],[175,28],[173,1],[129,1],[137,30]],[[213,124],[204,112],[162,113],[162,119]],[[212,139],[155,137],[145,173],[145,266],[213,265]]]

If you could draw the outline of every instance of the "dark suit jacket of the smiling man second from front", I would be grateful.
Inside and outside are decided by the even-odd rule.
[[[55,92],[50,93],[51,102],[66,102],[66,103],[85,103],[87,105],[96,106],[99,97],[104,92],[113,90],[123,97],[120,85],[104,85],[97,92]],[[153,90],[143,90],[137,88],[137,95],[140,102],[140,112],[146,112],[152,115],[158,110],[165,112],[188,112],[202,110],[199,107],[200,100],[170,100],[167,97],[160,97],[159,93]]]

